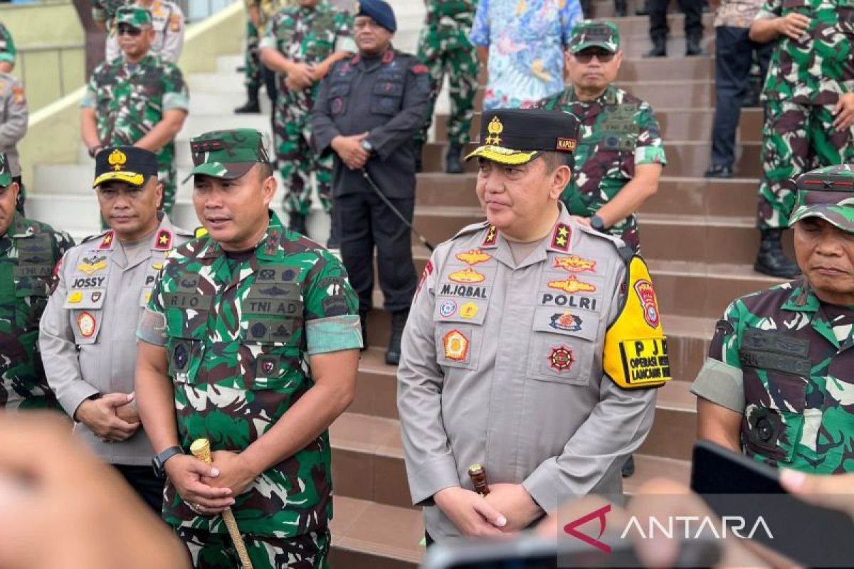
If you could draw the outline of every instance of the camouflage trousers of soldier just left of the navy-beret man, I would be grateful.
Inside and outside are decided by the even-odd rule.
[[[306,96],[279,85],[273,120],[278,171],[284,184],[284,211],[308,215],[312,206],[312,173],[318,185],[320,205],[332,208],[332,154],[321,157],[311,145],[311,110]]]

